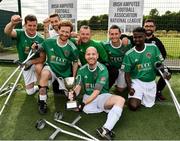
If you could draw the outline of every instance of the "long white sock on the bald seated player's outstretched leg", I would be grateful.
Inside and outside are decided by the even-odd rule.
[[[111,131],[114,128],[116,122],[121,117],[122,111],[123,109],[121,107],[114,105],[109,111],[106,123],[103,125],[103,127]]]

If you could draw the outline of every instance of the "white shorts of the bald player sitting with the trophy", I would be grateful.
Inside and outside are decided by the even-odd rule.
[[[107,99],[111,96],[112,96],[112,94],[110,94],[110,93],[104,93],[104,94],[98,95],[96,97],[96,99],[94,99],[91,103],[84,106],[83,111],[86,114],[101,113],[103,111],[108,113],[110,110],[104,109],[104,105],[105,105]],[[89,97],[89,95],[84,94],[83,101],[85,101],[88,97]]]

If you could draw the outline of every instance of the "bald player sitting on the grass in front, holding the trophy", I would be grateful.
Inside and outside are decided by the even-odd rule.
[[[97,61],[99,54],[95,47],[88,47],[85,53],[87,64],[78,70],[75,92],[69,93],[72,100],[74,93],[78,95],[84,89],[83,101],[79,111],[87,114],[106,112],[107,120],[103,127],[97,129],[98,134],[106,140],[113,137],[112,129],[121,117],[124,98],[110,94],[108,87],[108,70]]]

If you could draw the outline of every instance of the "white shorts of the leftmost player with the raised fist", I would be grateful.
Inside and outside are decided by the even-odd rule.
[[[35,66],[32,65],[30,69],[28,69],[27,71],[23,71],[23,77],[26,86],[31,83],[37,82]]]

